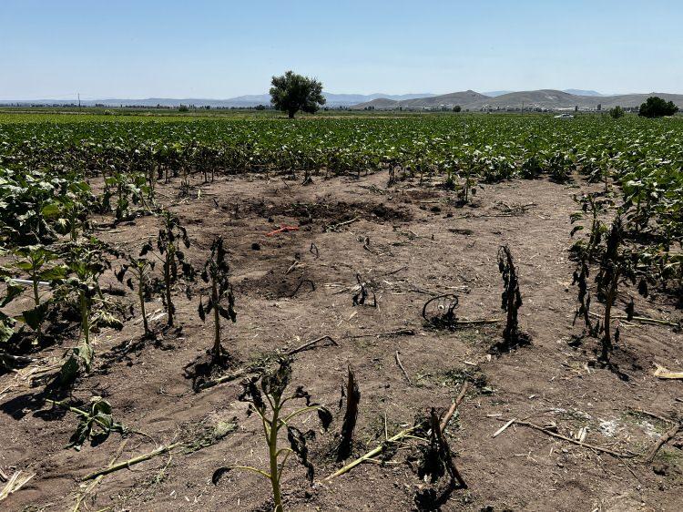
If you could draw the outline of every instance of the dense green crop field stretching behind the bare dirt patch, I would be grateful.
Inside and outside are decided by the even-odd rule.
[[[56,174],[170,169],[178,174],[382,169],[455,183],[573,173],[614,179],[650,228],[681,234],[683,118],[415,116],[402,118],[0,115],[0,167]],[[6,172],[6,170],[5,170]]]

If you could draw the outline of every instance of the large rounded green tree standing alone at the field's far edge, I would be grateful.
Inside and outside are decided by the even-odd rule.
[[[281,77],[272,77],[270,83],[270,102],[278,110],[287,112],[289,118],[294,118],[300,110],[313,114],[325,104],[322,83],[315,78],[287,71]]]

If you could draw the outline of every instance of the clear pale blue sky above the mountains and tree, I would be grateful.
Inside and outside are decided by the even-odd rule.
[[[0,98],[683,93],[681,0],[2,0]]]

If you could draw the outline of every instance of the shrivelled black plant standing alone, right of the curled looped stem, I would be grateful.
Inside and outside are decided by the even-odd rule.
[[[522,294],[519,292],[517,269],[510,248],[503,245],[498,250],[498,271],[503,276],[503,293],[501,293],[501,309],[507,312],[503,341],[496,343],[494,348],[499,352],[509,352],[511,349],[530,343],[527,333],[519,330],[517,312],[522,306]]]

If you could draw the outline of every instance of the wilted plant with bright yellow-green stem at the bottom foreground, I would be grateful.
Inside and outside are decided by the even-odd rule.
[[[282,358],[276,369],[250,377],[242,383],[242,393],[239,396],[239,400],[249,404],[248,415],[256,413],[260,417],[263,435],[268,445],[269,471],[251,466],[223,466],[214,471],[211,477],[211,481],[216,485],[221,476],[233,469],[240,469],[251,471],[267,478],[270,480],[270,486],[272,486],[274,510],[276,512],[284,511],[280,479],[284,472],[285,463],[291,454],[297,456],[301,465],[306,468],[306,476],[311,484],[314,476],[313,466],[308,460],[308,446],[306,443],[315,437],[315,432],[309,430],[306,433],[302,433],[297,427],[291,425],[291,421],[299,415],[312,411],[318,413],[324,429],[327,429],[332,421],[330,411],[321,404],[311,402],[311,395],[302,386],[297,387],[294,393],[287,394],[290,380],[291,360]],[[287,413],[285,405],[297,400],[304,400],[305,404],[297,406],[293,411]],[[290,446],[279,448],[279,435],[283,430],[287,432]]]

